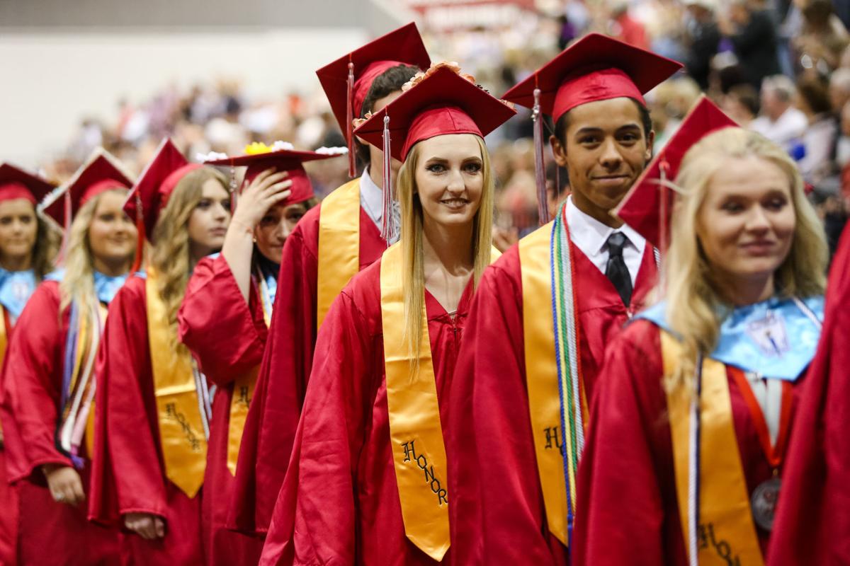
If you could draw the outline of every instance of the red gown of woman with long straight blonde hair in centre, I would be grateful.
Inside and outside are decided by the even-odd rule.
[[[261,564],[435,564],[407,540],[401,518],[389,440],[380,273],[377,261],[354,277],[322,325]],[[472,289],[470,282],[454,319],[425,294],[443,430]],[[443,563],[450,563],[450,555]]]

